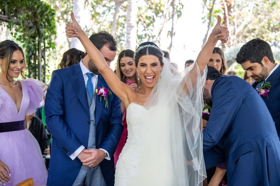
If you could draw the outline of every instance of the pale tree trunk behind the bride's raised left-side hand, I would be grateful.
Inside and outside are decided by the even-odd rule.
[[[82,23],[81,18],[82,18],[82,14],[84,11],[84,7],[85,7],[84,0],[73,0],[73,13],[75,15],[75,19],[81,25],[82,28],[83,28],[83,25],[81,24]],[[78,48],[79,43],[80,42],[79,42],[78,38],[72,38],[70,41],[70,48]]]

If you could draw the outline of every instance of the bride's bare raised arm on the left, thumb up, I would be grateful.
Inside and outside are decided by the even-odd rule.
[[[81,26],[75,20],[74,14],[71,13],[72,23],[66,24],[66,34],[68,38],[77,37],[83,47],[86,49],[87,54],[92,62],[96,65],[106,83],[115,95],[119,97],[125,104],[128,102],[128,93],[134,91],[131,87],[127,86],[119,80],[112,69],[107,65],[101,52],[91,43],[86,33],[82,30]]]

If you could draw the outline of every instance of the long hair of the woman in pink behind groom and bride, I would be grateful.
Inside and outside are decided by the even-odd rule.
[[[124,74],[122,73],[121,69],[120,69],[120,60],[123,58],[123,57],[131,57],[133,59],[133,55],[134,55],[134,52],[132,50],[123,50],[121,51],[121,53],[119,53],[119,56],[118,56],[118,60],[117,60],[117,76],[119,78],[119,80],[121,80],[122,82],[126,83],[125,82],[125,76]],[[137,70],[135,70],[135,74],[134,74],[134,78],[136,80],[136,83],[139,86],[141,86],[141,80],[138,79],[138,73],[137,73]]]

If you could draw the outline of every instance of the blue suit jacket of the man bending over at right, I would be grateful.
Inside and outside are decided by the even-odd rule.
[[[280,185],[280,141],[262,98],[236,76],[217,78],[211,95],[206,168],[226,161],[228,185]]]

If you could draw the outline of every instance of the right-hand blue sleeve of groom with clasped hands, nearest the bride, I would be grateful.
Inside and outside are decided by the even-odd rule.
[[[123,114],[120,107],[120,100],[114,94],[114,99],[112,101],[110,110],[110,130],[100,146],[100,148],[108,151],[110,157],[113,157],[123,131]]]

